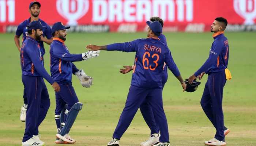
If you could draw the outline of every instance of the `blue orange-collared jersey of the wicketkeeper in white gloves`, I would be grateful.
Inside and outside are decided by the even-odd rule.
[[[70,54],[62,39],[53,38],[50,45],[50,71],[56,82],[71,82],[72,73],[79,71],[72,62],[82,60],[82,54]]]

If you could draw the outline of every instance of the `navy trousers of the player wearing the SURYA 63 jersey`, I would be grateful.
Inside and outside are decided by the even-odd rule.
[[[124,110],[119,118],[113,138],[120,139],[132,122],[136,112],[147,100],[154,115],[155,122],[159,123],[161,133],[160,142],[169,142],[167,119],[163,110],[162,89],[144,89],[130,87]]]

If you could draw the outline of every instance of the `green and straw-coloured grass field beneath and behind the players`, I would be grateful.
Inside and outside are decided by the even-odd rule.
[[[166,33],[183,78],[189,77],[207,59],[213,41],[211,33]],[[228,146],[256,146],[256,34],[255,32],[227,32],[230,57],[229,69],[233,79],[227,81],[223,95],[225,125],[231,130],[226,137]],[[71,53],[85,52],[88,44],[106,45],[115,42],[145,38],[146,33],[94,33],[68,34],[65,44]],[[23,105],[23,84],[19,53],[14,44],[14,34],[0,34],[0,146],[21,145],[25,123],[20,122],[20,107]],[[49,46],[45,45],[45,68],[49,73]],[[72,129],[71,136],[76,146],[106,146],[123,110],[132,73],[120,74],[123,65],[132,65],[135,53],[101,51],[98,58],[76,62],[86,74],[94,77],[91,88],[83,88],[73,76],[73,86],[80,102],[84,103]],[[182,92],[178,80],[169,72],[163,89],[164,109],[169,124],[172,146],[203,146],[204,141],[214,137],[215,129],[207,119],[200,99],[206,76],[196,92]],[[44,122],[39,127],[41,139],[46,146],[54,143],[56,126],[54,120],[55,97],[50,84],[46,83],[51,106]],[[149,128],[140,111],[121,138],[121,146],[139,146],[148,139]],[[59,146],[62,146],[58,144]]]

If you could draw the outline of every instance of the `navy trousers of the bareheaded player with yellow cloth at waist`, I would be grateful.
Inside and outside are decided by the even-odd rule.
[[[226,84],[225,71],[210,73],[204,87],[201,106],[216,128],[215,138],[222,141],[224,136],[224,116],[222,111],[223,88]]]

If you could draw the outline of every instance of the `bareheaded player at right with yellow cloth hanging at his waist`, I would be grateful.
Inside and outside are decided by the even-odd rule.
[[[216,128],[215,137],[209,141],[205,141],[206,145],[224,146],[225,135],[229,132],[224,126],[224,118],[222,111],[223,88],[226,80],[231,79],[227,64],[229,62],[229,43],[224,36],[224,30],[227,27],[227,20],[219,17],[214,20],[211,25],[211,32],[214,42],[210,49],[210,55],[203,66],[189,77],[189,82],[198,77],[201,79],[204,74],[208,74],[208,79],[204,87],[204,93],[201,99],[201,106]]]

